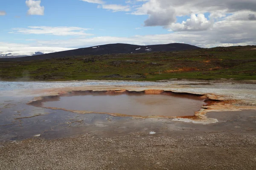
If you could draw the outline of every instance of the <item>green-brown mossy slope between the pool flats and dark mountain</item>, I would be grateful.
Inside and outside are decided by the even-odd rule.
[[[256,79],[255,46],[0,62],[2,80]],[[86,59],[94,58],[94,59]],[[159,74],[160,71],[160,74]],[[103,78],[119,74],[120,77]],[[139,75],[129,77],[129,75]],[[141,77],[140,77],[141,75]]]

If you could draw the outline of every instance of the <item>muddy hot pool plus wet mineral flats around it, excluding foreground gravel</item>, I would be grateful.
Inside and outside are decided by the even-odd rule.
[[[135,132],[137,134],[140,131],[147,131],[148,134],[154,131],[159,134],[170,134],[180,133],[181,131],[177,131],[180,129],[247,133],[247,130],[255,129],[255,84],[239,84],[233,81],[211,82],[210,85],[202,83],[205,81],[201,84],[187,80],[169,82],[0,81],[0,142],[26,139],[38,134],[41,134],[41,137],[58,138],[86,133],[108,136],[135,134]],[[151,92],[161,94],[150,94]],[[210,100],[215,97],[219,101]],[[200,118],[190,117],[205,104],[204,99],[208,107],[200,112]],[[228,102],[233,99],[236,101]],[[239,102],[242,105],[239,106]],[[61,110],[61,108],[64,109]],[[239,111],[239,109],[252,110]],[[226,113],[222,110],[238,112]],[[90,113],[83,114],[88,113],[84,111]],[[99,112],[107,114],[99,114]],[[183,118],[189,119],[133,118],[134,116],[147,118],[151,115],[167,118],[188,116]],[[216,122],[218,124],[211,124]]]

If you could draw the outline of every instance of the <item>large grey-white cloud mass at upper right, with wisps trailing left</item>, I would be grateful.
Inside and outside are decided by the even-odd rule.
[[[84,0],[103,4],[105,1]],[[127,6],[116,4],[99,5],[98,8],[113,11],[131,11],[134,15],[148,15],[145,26],[163,26],[175,31],[203,31],[215,21],[239,11],[250,11],[246,20],[256,20],[256,0],[125,0]],[[195,14],[190,19],[177,23],[177,17]],[[209,20],[203,16],[209,14]]]

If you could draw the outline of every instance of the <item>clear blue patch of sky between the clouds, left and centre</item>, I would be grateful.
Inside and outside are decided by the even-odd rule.
[[[109,1],[111,4],[126,6],[125,1]],[[3,3],[3,4],[2,4]],[[13,6],[12,4],[15,4]],[[12,28],[27,28],[29,26],[49,27],[80,27],[90,28],[88,34],[96,36],[130,37],[134,35],[166,34],[168,30],[161,26],[143,27],[146,15],[131,15],[126,11],[113,12],[97,8],[96,3],[87,3],[81,0],[42,0],[44,15],[28,15],[25,0],[8,0],[1,2],[1,8],[5,9],[6,16],[1,17],[0,41],[10,43],[22,42],[27,39],[69,39],[75,36],[53,36],[45,34],[16,34]]]

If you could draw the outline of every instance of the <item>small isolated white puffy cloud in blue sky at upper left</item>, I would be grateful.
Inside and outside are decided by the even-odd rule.
[[[44,6],[40,6],[41,0],[26,0],[26,6],[29,7],[27,14],[44,15]]]

